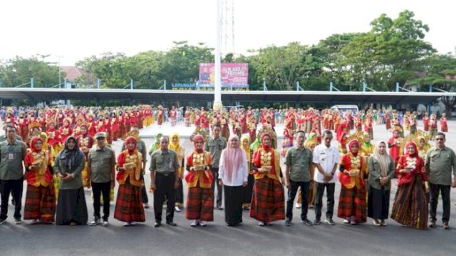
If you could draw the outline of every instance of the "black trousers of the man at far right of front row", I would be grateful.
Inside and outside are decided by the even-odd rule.
[[[442,193],[443,203],[443,215],[442,221],[447,222],[450,220],[450,185],[439,185],[429,183],[430,188],[430,201],[429,201],[429,216],[431,220],[437,220],[435,218],[437,211],[437,204],[439,201],[439,194]]]

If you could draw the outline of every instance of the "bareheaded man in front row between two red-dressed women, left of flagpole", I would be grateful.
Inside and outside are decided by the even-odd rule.
[[[176,226],[173,219],[176,188],[179,186],[180,164],[176,152],[168,149],[168,144],[170,144],[170,138],[161,137],[160,149],[152,152],[150,156],[150,188],[154,189],[155,228],[162,225],[165,196],[167,198],[166,223]]]

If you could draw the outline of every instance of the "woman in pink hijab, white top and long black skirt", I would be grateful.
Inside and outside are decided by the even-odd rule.
[[[242,188],[247,186],[249,171],[247,156],[241,149],[239,137],[232,135],[228,147],[222,151],[219,163],[219,183],[223,185],[225,222],[229,226],[242,223]]]

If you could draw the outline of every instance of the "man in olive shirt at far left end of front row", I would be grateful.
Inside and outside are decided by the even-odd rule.
[[[6,141],[0,142],[0,224],[8,218],[8,199],[14,199],[14,223],[21,224],[22,190],[24,183],[24,158],[27,149],[16,139],[16,127],[6,127]]]

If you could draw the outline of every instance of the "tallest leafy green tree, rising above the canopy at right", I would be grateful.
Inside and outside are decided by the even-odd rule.
[[[435,53],[425,42],[429,27],[414,18],[412,11],[391,19],[385,14],[371,22],[371,31],[353,38],[342,50],[341,63],[351,70],[355,82],[368,82],[376,90],[393,90],[395,82],[405,85],[423,60]]]

